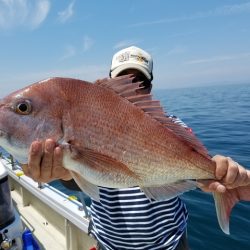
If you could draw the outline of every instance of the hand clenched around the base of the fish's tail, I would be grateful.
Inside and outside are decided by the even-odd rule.
[[[216,163],[216,180],[197,181],[198,187],[205,192],[224,193],[250,184],[250,171],[233,161],[230,157],[216,155],[212,158]]]

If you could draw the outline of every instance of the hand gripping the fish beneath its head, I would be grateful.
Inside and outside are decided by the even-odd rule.
[[[56,179],[72,179],[62,163],[62,149],[52,139],[45,142],[34,141],[29,150],[28,164],[23,164],[23,172],[37,182]]]

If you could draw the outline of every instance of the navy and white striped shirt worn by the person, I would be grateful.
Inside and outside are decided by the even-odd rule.
[[[171,118],[187,127],[175,116]],[[91,215],[91,233],[107,250],[173,250],[186,231],[188,218],[179,197],[151,201],[139,187],[100,187],[100,201],[92,201]]]

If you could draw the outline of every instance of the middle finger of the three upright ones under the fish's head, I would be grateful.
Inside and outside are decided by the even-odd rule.
[[[55,148],[55,141],[47,139],[44,144],[44,154],[41,162],[40,181],[51,181],[51,173],[53,168],[53,154]]]

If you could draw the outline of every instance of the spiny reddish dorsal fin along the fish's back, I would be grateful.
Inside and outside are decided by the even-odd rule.
[[[135,106],[142,109],[146,114],[164,125],[167,129],[171,130],[179,139],[192,146],[194,150],[210,158],[207,149],[193,133],[176,123],[173,117],[167,116],[160,101],[153,100],[150,94],[137,93],[137,91],[142,88],[140,87],[141,82],[133,83],[133,79],[133,75],[124,75],[111,79],[105,78],[103,80],[98,80],[95,84],[112,89],[118,95],[126,98]]]

